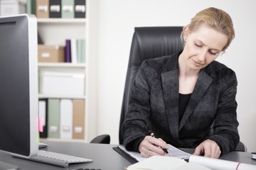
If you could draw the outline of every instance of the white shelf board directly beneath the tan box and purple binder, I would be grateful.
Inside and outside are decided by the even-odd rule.
[[[38,67],[59,67],[59,68],[85,68],[85,63],[68,63],[68,62],[38,62]]]

